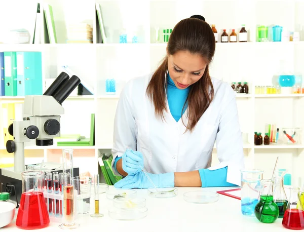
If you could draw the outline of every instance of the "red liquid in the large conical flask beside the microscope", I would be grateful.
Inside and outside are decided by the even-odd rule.
[[[20,229],[40,229],[50,223],[43,192],[23,192],[16,225]]]

